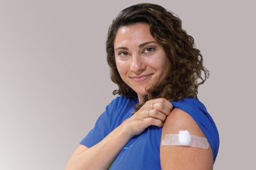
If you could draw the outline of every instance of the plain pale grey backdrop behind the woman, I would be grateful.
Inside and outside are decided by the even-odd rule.
[[[141,2],[0,0],[0,169],[64,169],[114,98],[108,26]],[[253,1],[148,2],[179,15],[211,70],[199,98],[220,131],[214,169],[255,167]]]

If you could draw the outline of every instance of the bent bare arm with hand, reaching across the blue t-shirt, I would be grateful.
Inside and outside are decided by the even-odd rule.
[[[153,110],[152,103],[154,103]],[[151,117],[148,117],[148,110]],[[162,127],[170,110],[172,110],[172,104],[166,99],[148,101],[97,145],[91,148],[80,145],[68,160],[66,170],[108,169],[120,150],[133,136],[141,134],[150,125]]]

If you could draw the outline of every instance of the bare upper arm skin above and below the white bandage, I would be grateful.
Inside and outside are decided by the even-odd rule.
[[[205,138],[204,133],[188,113],[175,108],[163,125],[161,141],[165,134],[178,134],[188,130],[190,134]],[[188,146],[161,145],[161,168],[164,169],[212,169],[213,157],[211,147],[208,149]]]

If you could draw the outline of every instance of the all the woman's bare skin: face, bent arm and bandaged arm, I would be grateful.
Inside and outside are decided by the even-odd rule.
[[[170,62],[163,47],[151,36],[148,25],[142,23],[120,27],[114,46],[120,76],[138,94],[141,103],[143,95],[147,94],[146,89],[163,81],[168,74],[166,68],[170,68]],[[108,169],[125,144],[150,125],[163,127],[162,140],[165,134],[185,129],[193,135],[204,137],[188,113],[179,109],[173,110],[172,104],[166,99],[152,99],[97,145],[91,148],[78,146],[68,160],[66,170]],[[160,149],[161,169],[212,169],[211,148],[204,150],[161,146]]]

